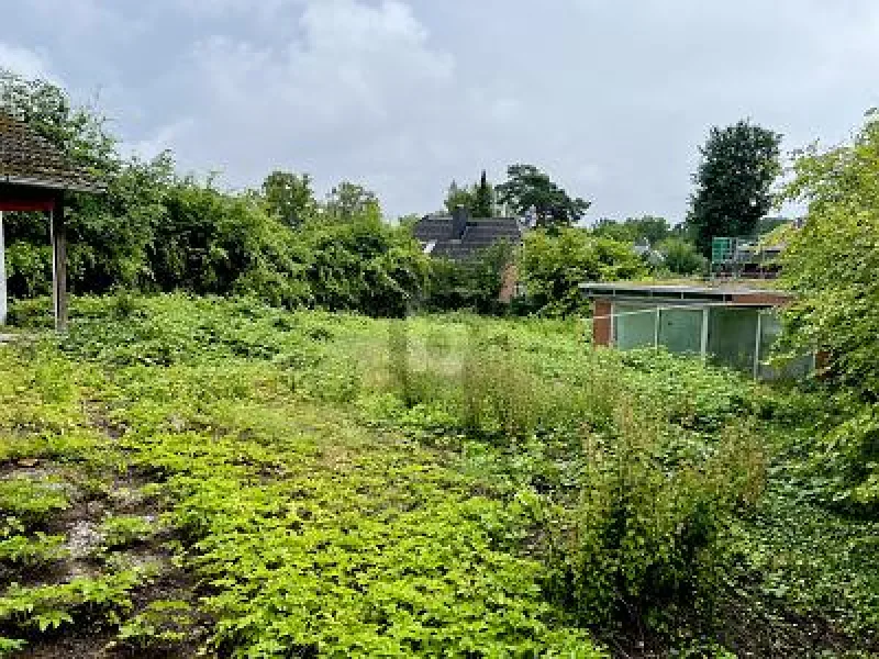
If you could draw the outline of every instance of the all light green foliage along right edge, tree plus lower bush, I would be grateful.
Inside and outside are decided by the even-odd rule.
[[[825,377],[864,401],[822,442],[816,471],[832,496],[876,510],[879,504],[879,118],[849,145],[812,147],[794,164],[787,193],[806,202],[805,225],[789,235],[782,282],[797,298],[785,310],[785,347],[822,350]]]

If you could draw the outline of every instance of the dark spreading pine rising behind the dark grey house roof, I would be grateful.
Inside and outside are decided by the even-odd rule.
[[[583,216],[590,202],[571,198],[533,165],[511,165],[507,181],[497,188],[498,201],[520,214],[532,209],[537,226],[569,226]]]

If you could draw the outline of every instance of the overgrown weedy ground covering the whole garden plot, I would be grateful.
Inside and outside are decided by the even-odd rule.
[[[577,322],[74,312],[0,347],[0,656],[879,649],[876,524],[799,470],[820,392]]]

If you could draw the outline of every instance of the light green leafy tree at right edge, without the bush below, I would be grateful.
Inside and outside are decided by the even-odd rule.
[[[794,174],[787,197],[809,213],[782,255],[798,293],[789,339],[826,350],[833,373],[879,400],[879,115],[850,145],[806,149]]]

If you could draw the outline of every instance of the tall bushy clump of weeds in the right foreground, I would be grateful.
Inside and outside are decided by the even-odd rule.
[[[764,461],[741,429],[706,460],[671,461],[657,455],[661,426],[635,409],[617,412],[613,442],[602,434],[585,440],[587,487],[552,526],[550,582],[585,622],[634,616],[663,629],[694,599],[714,599],[719,534],[758,499]]]

